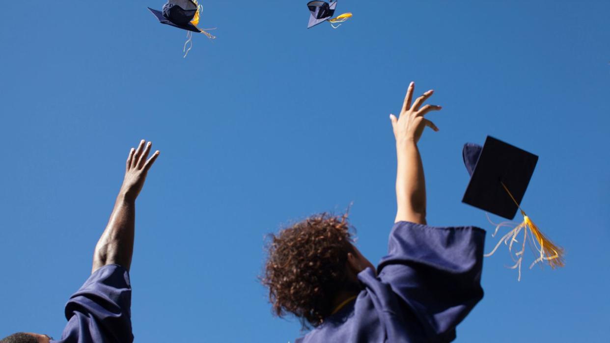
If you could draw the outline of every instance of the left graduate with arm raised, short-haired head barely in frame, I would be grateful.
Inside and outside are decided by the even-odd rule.
[[[134,341],[131,331],[129,266],[134,251],[135,199],[146,174],[159,156],[148,158],[152,144],[141,141],[127,157],[125,177],[106,230],[93,252],[91,276],[74,293],[65,308],[68,324],[62,337],[16,333],[0,343],[124,343]],[[148,158],[148,160],[147,160]]]

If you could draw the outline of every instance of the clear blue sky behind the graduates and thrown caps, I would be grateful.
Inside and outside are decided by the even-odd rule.
[[[137,203],[137,342],[288,342],[257,283],[264,237],[345,210],[373,263],[395,214],[388,115],[409,81],[443,105],[420,149],[431,225],[479,225],[461,203],[462,144],[540,156],[523,208],[566,266],[484,261],[458,342],[606,342],[610,335],[610,2],[206,1],[193,38],[145,1],[9,1],[0,23],[0,336],[59,338],[88,277],[129,148],[161,150]],[[497,219],[497,218],[494,218]],[[495,239],[487,237],[487,250]],[[528,258],[533,258],[529,255]],[[531,261],[531,260],[528,260]]]

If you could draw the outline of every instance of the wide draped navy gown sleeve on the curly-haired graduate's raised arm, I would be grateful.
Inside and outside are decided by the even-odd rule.
[[[378,275],[421,322],[429,341],[453,340],[456,325],[483,298],[484,240],[477,227],[393,226]]]

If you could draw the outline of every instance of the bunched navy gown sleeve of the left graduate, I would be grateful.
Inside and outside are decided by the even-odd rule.
[[[60,342],[133,342],[129,272],[109,264],[93,272],[65,308]]]

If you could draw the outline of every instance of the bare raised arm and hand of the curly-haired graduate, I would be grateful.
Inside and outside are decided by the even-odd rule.
[[[417,142],[422,136],[424,127],[431,127],[434,131],[439,130],[436,125],[423,116],[429,111],[440,110],[441,107],[437,105],[422,107],[423,102],[434,93],[433,90],[423,93],[411,105],[414,88],[415,83],[411,82],[398,118],[395,115],[390,115],[394,137],[396,138],[398,160],[396,172],[396,202],[398,208],[394,222],[409,221],[426,224],[426,182]]]

